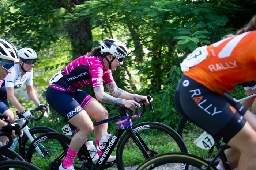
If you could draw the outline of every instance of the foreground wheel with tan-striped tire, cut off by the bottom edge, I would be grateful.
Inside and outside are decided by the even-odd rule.
[[[188,153],[166,153],[157,155],[142,163],[136,170],[205,170],[209,162]],[[211,166],[209,170],[217,170]]]

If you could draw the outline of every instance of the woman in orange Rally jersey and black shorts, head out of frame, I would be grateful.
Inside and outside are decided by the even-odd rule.
[[[232,147],[226,151],[234,154],[228,157],[231,169],[237,166],[237,155],[240,169],[256,169],[256,118],[225,93],[255,80],[255,46],[256,16],[236,36],[188,55],[181,63],[184,75],[174,94],[182,116]]]

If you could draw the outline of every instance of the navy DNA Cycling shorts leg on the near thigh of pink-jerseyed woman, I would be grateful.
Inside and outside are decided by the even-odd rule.
[[[57,113],[69,120],[83,110],[78,101],[74,99],[74,95],[48,87],[46,100]]]

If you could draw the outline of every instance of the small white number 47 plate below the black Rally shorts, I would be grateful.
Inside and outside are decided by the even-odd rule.
[[[206,131],[200,135],[199,138],[194,142],[196,146],[202,149],[210,149],[214,145],[214,139],[211,135],[209,135]]]

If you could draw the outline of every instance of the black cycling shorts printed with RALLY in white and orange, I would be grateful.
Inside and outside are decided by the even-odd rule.
[[[225,143],[246,123],[247,109],[235,98],[219,95],[185,75],[176,87],[174,103],[182,116]]]

